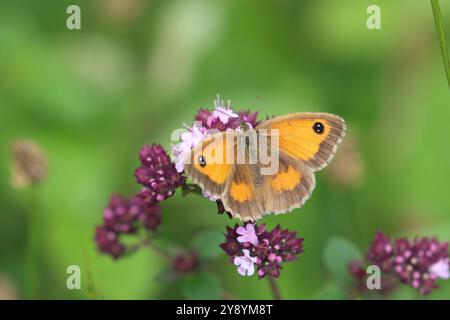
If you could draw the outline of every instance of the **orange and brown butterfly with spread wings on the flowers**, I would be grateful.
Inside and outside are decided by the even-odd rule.
[[[309,199],[314,173],[330,163],[345,131],[345,121],[329,113],[274,117],[253,129],[206,138],[187,157],[185,173],[243,221],[287,213]],[[258,155],[264,149],[270,161]]]

